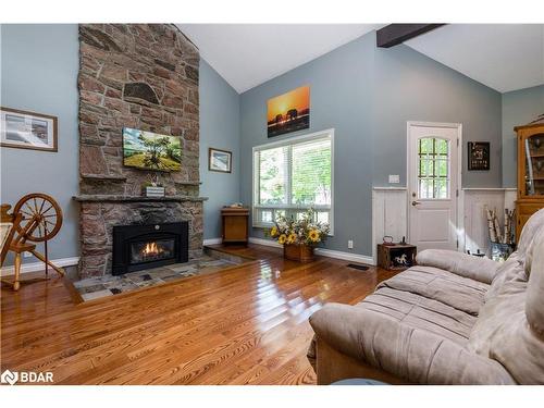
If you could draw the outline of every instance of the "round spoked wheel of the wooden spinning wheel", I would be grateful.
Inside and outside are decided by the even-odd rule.
[[[57,235],[62,225],[62,210],[57,201],[41,193],[24,196],[13,208],[23,220],[17,232],[25,239],[45,242]]]

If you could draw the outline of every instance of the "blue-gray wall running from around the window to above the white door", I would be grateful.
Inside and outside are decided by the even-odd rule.
[[[251,148],[267,138],[267,100],[310,85],[311,133],[335,128],[335,235],[330,249],[372,254],[372,186],[406,185],[406,122],[456,122],[463,139],[492,143],[492,171],[463,172],[463,187],[499,187],[500,94],[406,46],[376,49],[370,33],[242,95],[240,197],[251,202]],[[279,138],[274,138],[276,140]],[[463,164],[466,168],[467,164]],[[466,169],[465,169],[466,170]],[[252,235],[262,237],[262,230]]]

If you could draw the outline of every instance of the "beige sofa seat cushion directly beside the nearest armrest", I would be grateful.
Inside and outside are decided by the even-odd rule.
[[[379,288],[356,305],[356,308],[380,313],[413,329],[435,333],[459,345],[467,343],[477,321],[475,317],[441,301],[390,287]]]

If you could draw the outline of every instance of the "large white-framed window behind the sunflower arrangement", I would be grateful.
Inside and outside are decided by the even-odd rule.
[[[310,207],[332,231],[333,131],[254,148],[254,226]]]

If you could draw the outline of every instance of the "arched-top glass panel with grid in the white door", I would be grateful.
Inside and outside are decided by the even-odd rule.
[[[423,137],[418,140],[418,197],[449,198],[449,140]]]

